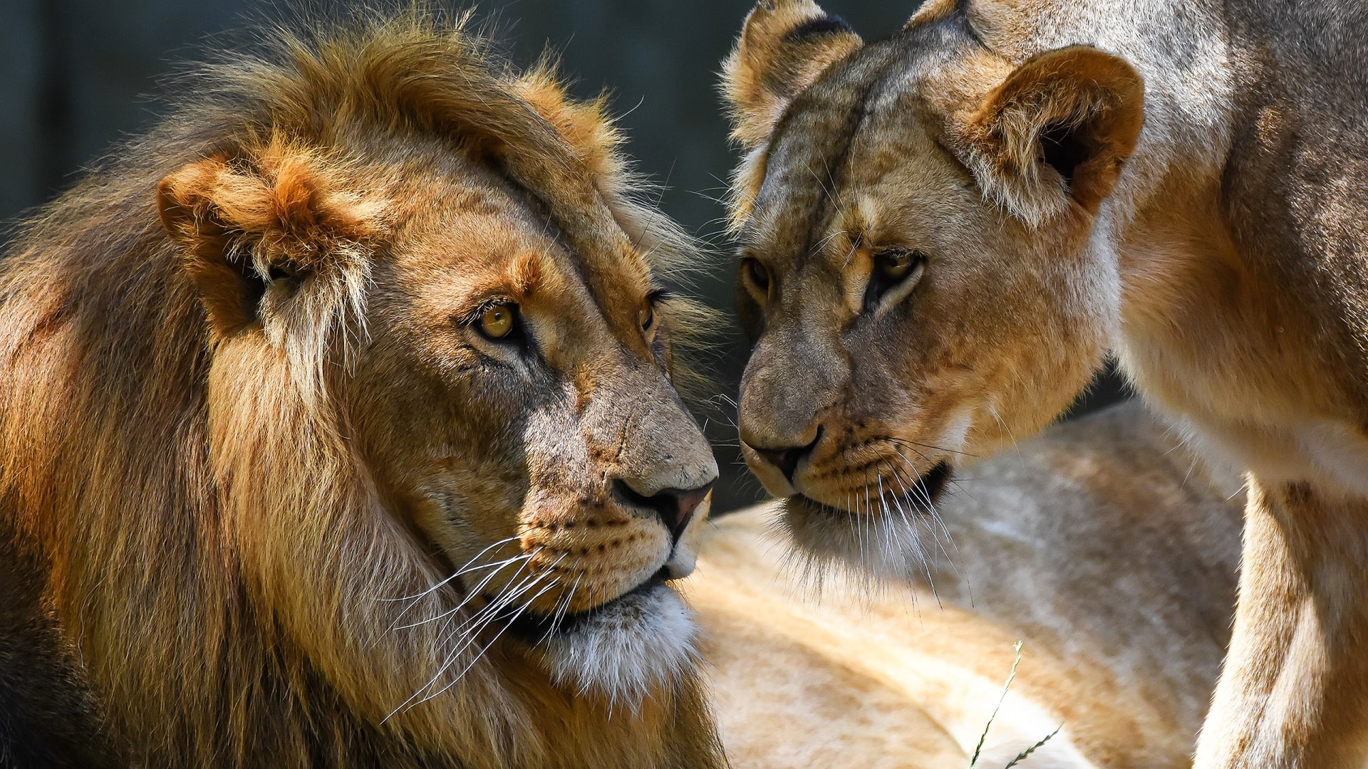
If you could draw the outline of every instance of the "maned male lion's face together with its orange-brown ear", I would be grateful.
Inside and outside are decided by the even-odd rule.
[[[365,164],[274,142],[163,182],[167,227],[201,260],[211,400],[259,390],[242,378],[282,356],[301,393],[300,372],[326,382],[305,404],[338,410],[342,450],[428,560],[428,597],[451,597],[397,620],[445,623],[460,649],[439,677],[503,639],[572,691],[639,698],[692,662],[668,583],[694,569],[717,478],[669,380],[679,300],[603,203],[572,241],[498,172],[416,141]],[[337,339],[311,361],[330,312]]]

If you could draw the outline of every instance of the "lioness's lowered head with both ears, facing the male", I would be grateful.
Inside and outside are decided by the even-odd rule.
[[[1100,160],[1088,153],[1105,144],[1115,177],[1107,142],[1130,131],[1133,144],[1138,122],[1094,130],[1083,115],[1044,144],[1004,138],[1019,127],[1010,119],[1033,125],[1018,115],[1022,92],[1115,60],[1012,73],[956,34],[910,29],[866,47],[811,3],[762,4],[728,63],[750,149],[735,209],[737,301],[755,342],[743,452],[788,497],[800,545],[866,562],[886,551],[889,568],[918,545],[900,521],[933,508],[958,462],[1071,402],[1116,305],[1108,252],[1090,246]],[[928,53],[937,47],[973,66],[948,70]],[[1114,70],[1123,79],[1129,67]],[[990,155],[995,141],[1029,144],[1029,183]],[[1040,197],[1014,200],[1021,186]]]

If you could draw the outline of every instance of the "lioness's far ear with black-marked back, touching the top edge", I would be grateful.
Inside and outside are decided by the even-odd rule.
[[[863,45],[813,0],[761,0],[722,64],[732,138],[746,149],[769,140],[784,109],[837,59]]]

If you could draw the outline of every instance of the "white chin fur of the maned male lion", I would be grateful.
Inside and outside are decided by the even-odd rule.
[[[698,664],[698,625],[665,584],[633,592],[542,642],[542,660],[561,686],[636,706]]]

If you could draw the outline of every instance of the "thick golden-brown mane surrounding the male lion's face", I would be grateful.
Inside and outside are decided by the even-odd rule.
[[[605,718],[497,650],[438,680],[456,684],[449,696],[391,713],[436,669],[434,624],[395,625],[439,612],[421,595],[439,575],[383,514],[330,382],[365,338],[371,235],[395,222],[347,209],[326,249],[312,248],[312,222],[286,227],[287,242],[224,233],[244,253],[331,260],[334,278],[297,319],[309,333],[215,364],[211,319],[157,216],[159,182],[207,157],[276,182],[354,179],[357,159],[306,148],[417,135],[483,159],[577,257],[611,253],[595,239],[618,227],[679,267],[689,246],[632,200],[602,100],[569,100],[549,64],[514,71],[464,18],[419,12],[278,31],[178,89],[170,119],[41,209],[0,261],[0,524],[47,564],[44,601],[114,705],[111,733],[138,735],[152,765],[721,761],[692,680],[635,720]],[[260,163],[272,148],[282,163]],[[670,312],[694,308],[673,300]],[[674,324],[676,342],[685,331]]]

